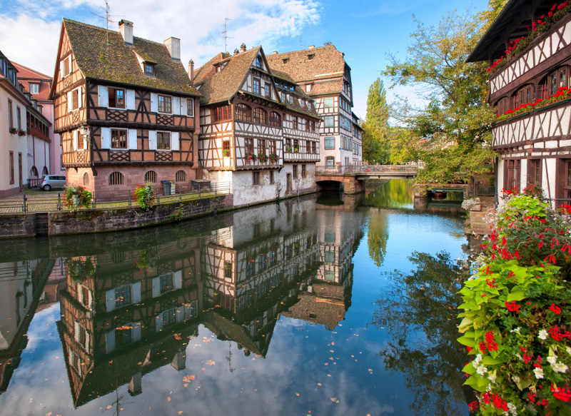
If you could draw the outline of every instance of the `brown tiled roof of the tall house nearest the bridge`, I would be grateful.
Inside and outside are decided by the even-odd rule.
[[[309,59],[312,55],[313,57]],[[333,45],[268,55],[266,59],[271,69],[287,72],[298,83],[343,77],[345,71],[343,53]],[[310,95],[315,94],[312,91]]]

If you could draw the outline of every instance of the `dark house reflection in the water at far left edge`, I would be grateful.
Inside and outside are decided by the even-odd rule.
[[[0,263],[0,393],[6,391],[54,260]]]

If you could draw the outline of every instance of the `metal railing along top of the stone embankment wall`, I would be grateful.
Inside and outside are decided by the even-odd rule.
[[[157,188],[156,205],[191,201],[212,196],[228,195],[231,191],[229,182],[216,183],[193,183],[188,186],[178,187],[178,193],[164,193],[162,188]],[[0,214],[49,212],[66,209],[65,192],[49,195],[24,194],[0,199]],[[102,208],[131,208],[136,207],[137,201],[133,198],[132,191],[96,192],[91,198],[91,209]],[[84,208],[82,208],[84,209]]]

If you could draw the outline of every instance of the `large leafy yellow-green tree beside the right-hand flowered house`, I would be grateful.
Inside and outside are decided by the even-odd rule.
[[[417,181],[466,180],[486,171],[495,154],[490,148],[494,116],[487,106],[487,64],[465,60],[499,4],[492,0],[489,10],[475,16],[451,12],[437,26],[415,19],[407,59],[400,63],[393,57],[384,72],[395,84],[418,87],[419,97],[428,102],[425,108],[405,103],[398,115],[422,139],[416,148],[425,169]]]

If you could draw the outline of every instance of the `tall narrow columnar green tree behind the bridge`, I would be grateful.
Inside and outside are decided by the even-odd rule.
[[[363,133],[363,159],[369,163],[383,163],[389,158],[390,108],[387,93],[380,78],[369,87],[367,96],[367,117],[361,123]]]

